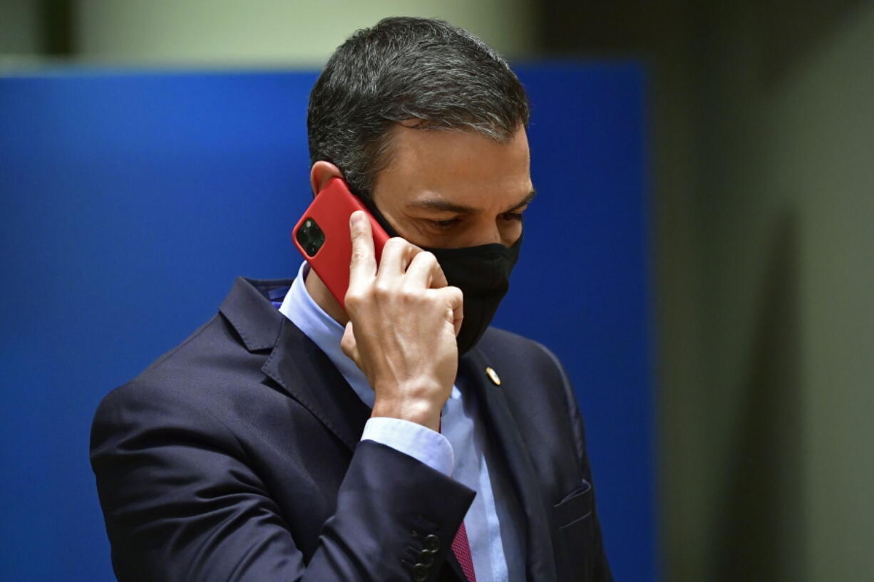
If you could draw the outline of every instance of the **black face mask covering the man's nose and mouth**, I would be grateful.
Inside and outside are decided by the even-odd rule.
[[[368,198],[362,198],[367,210],[377,219],[389,236],[399,236]],[[510,288],[510,271],[519,258],[522,237],[507,247],[499,243],[464,248],[424,248],[434,253],[449,285],[464,294],[464,320],[456,338],[461,356],[480,341],[498,304]]]

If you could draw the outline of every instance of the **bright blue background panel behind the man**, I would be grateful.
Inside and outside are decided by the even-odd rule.
[[[564,362],[615,577],[654,580],[644,77],[517,72],[538,198],[496,324]],[[87,462],[94,409],[212,316],[235,276],[295,274],[315,80],[0,79],[0,579],[113,579]]]

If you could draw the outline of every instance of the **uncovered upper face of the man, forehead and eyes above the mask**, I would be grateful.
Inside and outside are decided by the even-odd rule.
[[[524,128],[499,143],[474,131],[398,125],[392,152],[373,201],[404,239],[458,248],[511,246],[522,235],[522,212],[534,196]]]

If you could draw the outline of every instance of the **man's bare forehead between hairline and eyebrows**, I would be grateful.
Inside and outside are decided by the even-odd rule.
[[[376,177],[374,195],[396,201],[438,196],[485,206],[531,191],[528,138],[521,126],[506,142],[474,131],[400,125],[391,139],[390,161]]]

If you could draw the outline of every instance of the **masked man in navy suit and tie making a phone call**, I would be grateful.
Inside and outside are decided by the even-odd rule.
[[[533,197],[516,76],[446,23],[385,19],[310,97],[314,193],[343,177],[344,306],[304,264],[239,279],[108,395],[91,459],[129,580],[609,580],[579,410],[489,328]]]

